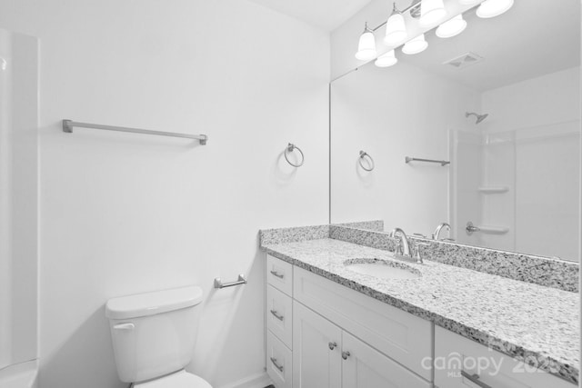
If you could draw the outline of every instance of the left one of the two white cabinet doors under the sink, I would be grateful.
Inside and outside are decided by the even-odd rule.
[[[293,388],[341,387],[341,339],[339,327],[293,303]]]

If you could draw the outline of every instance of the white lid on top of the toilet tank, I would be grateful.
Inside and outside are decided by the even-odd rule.
[[[105,305],[105,316],[110,319],[137,318],[192,307],[200,302],[202,288],[191,285],[109,299]]]

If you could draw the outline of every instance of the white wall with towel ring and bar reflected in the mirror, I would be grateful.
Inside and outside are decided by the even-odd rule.
[[[383,219],[386,230],[429,235],[449,221],[448,166],[405,157],[449,159],[449,130],[467,125],[477,91],[401,61],[366,65],[332,85],[332,222]],[[358,166],[359,151],[376,161]],[[414,205],[412,205],[414,204]]]

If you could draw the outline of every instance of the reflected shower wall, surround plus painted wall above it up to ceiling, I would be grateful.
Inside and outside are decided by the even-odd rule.
[[[579,71],[483,93],[487,120],[458,131],[452,146],[459,242],[578,260]],[[467,235],[469,220],[492,231]]]

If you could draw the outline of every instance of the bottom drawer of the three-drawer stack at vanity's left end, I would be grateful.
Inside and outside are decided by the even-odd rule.
[[[292,388],[293,354],[276,336],[266,331],[266,373],[276,388]]]

